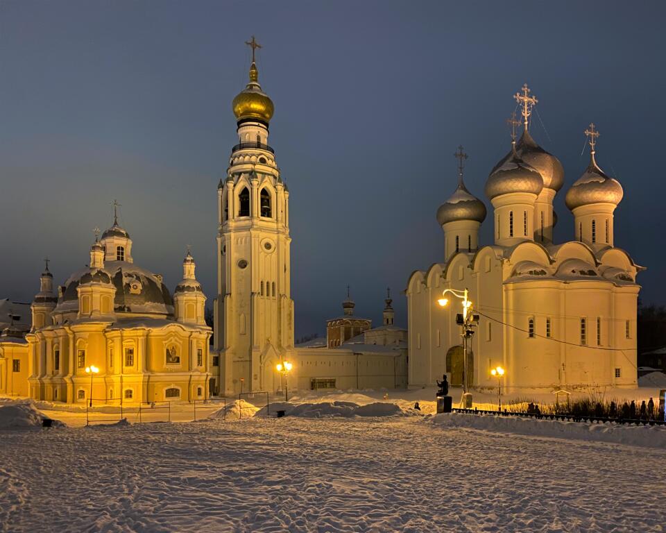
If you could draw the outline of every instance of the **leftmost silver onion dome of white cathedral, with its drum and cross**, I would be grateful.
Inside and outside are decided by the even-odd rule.
[[[455,253],[477,250],[479,227],[486,219],[486,206],[467,190],[463,182],[463,162],[467,154],[462,146],[458,146],[454,156],[459,160],[458,187],[437,210],[437,221],[444,230],[444,257],[447,261]]]

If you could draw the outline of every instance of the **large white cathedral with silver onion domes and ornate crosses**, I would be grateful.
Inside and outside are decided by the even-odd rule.
[[[599,168],[599,133],[590,124],[590,164],[565,197],[575,240],[556,244],[552,204],[563,168],[529,133],[537,100],[527,85],[515,98],[522,137],[516,143],[512,135],[511,150],[486,181],[494,244],[478,244],[486,208],[463,183],[459,151],[459,185],[437,213],[444,262],[409,278],[409,384],[434,384],[443,373],[461,384],[460,308],[437,301],[445,289],[467,288],[480,317],[468,355],[473,387],[496,387],[490,370],[497,365],[510,390],[636,387],[636,276],[644,268],[613,241],[622,186]],[[520,124],[515,117],[509,123],[514,131]]]

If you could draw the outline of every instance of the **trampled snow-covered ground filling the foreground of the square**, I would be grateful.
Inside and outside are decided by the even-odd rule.
[[[665,530],[663,428],[608,437],[375,402],[329,395],[275,405],[284,418],[253,409],[239,420],[229,405],[226,420],[216,409],[199,422],[89,428],[63,413],[67,428],[0,430],[0,531]]]

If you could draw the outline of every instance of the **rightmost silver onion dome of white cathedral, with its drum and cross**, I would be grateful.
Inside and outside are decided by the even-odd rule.
[[[567,191],[567,208],[574,214],[576,239],[595,250],[613,246],[613,212],[622,201],[622,185],[604,174],[595,160],[599,132],[594,124],[585,130],[590,144],[590,164]]]

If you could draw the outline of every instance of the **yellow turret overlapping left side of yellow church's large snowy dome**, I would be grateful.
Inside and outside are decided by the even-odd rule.
[[[95,230],[98,233],[98,230]],[[99,318],[112,320],[113,301],[116,287],[111,275],[104,269],[104,247],[95,238],[90,248],[89,271],[80,278],[78,294],[78,318]]]

